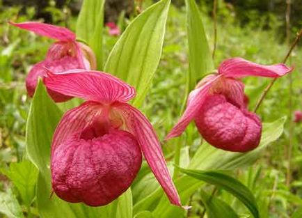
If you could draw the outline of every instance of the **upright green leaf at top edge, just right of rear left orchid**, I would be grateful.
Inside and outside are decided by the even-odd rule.
[[[104,0],[84,0],[77,20],[77,38],[85,41],[97,58],[97,70],[103,68]]]

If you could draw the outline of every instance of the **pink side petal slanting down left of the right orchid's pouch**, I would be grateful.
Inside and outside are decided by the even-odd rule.
[[[180,136],[180,134],[182,134],[182,132],[184,132],[186,126],[189,125],[191,120],[193,120],[193,118],[200,110],[200,107],[202,107],[205,97],[209,93],[209,89],[212,88],[212,84],[218,78],[220,77],[213,75],[211,75],[211,79],[208,79],[208,77],[206,77],[205,83],[202,83],[202,81],[200,81],[200,84],[198,85],[199,88],[196,88],[191,91],[186,105],[186,110],[184,111],[184,114],[182,114],[182,118],[180,118],[176,125],[174,125],[173,129],[166,136],[165,140],[178,137]]]

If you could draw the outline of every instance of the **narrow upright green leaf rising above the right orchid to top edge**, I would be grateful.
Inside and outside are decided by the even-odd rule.
[[[195,0],[186,0],[186,22],[189,43],[189,73],[186,81],[189,92],[199,79],[214,70],[214,63]]]

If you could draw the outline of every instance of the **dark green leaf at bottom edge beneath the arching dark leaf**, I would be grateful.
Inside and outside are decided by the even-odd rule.
[[[202,190],[200,191],[200,196],[209,218],[238,218],[238,215],[228,203],[221,201],[215,196],[209,196]]]

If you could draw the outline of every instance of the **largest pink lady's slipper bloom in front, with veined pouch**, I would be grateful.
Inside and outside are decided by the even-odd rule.
[[[180,198],[159,139],[141,111],[127,104],[136,92],[112,75],[69,70],[45,77],[51,90],[87,100],[67,111],[54,132],[51,178],[63,200],[106,205],[125,192],[145,156],[170,202]]]

